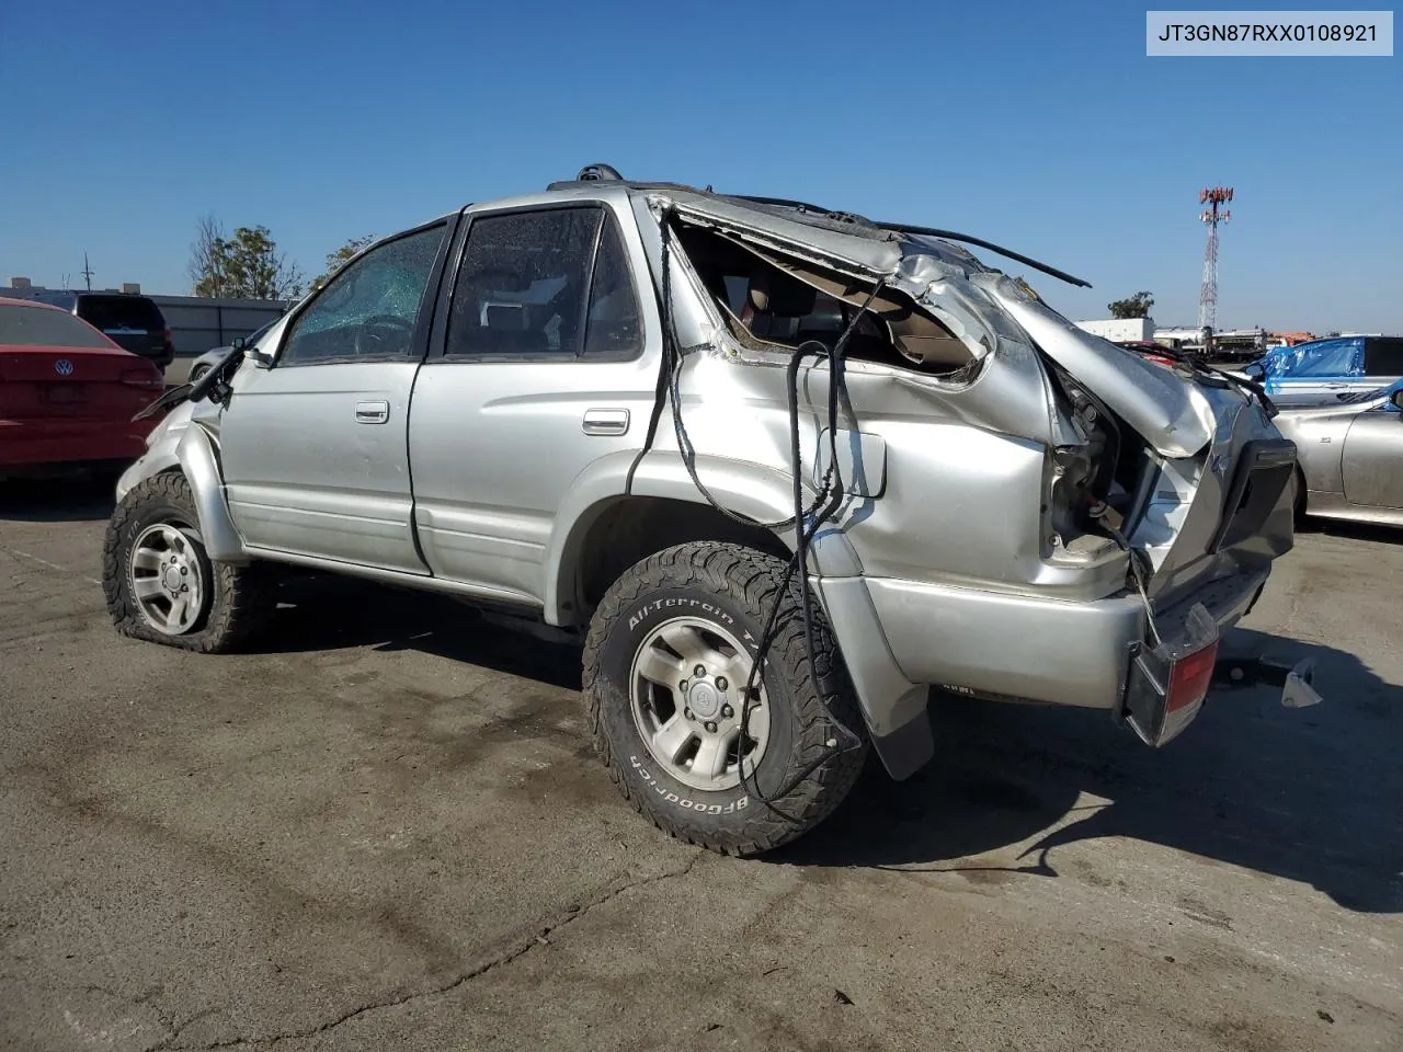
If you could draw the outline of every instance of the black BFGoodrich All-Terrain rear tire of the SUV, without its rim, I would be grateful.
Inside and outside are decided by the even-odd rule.
[[[699,541],[666,548],[624,571],[609,588],[585,641],[586,718],[610,778],[655,826],[723,854],[769,851],[817,826],[847,795],[868,750],[828,621],[815,603],[815,654],[810,655],[797,579],[780,596],[784,568],[781,560],[741,544]],[[689,788],[652,762],[638,732],[629,683],[633,655],[657,624],[686,613],[723,619],[717,624],[732,619],[725,627],[753,658],[777,596],[780,627],[765,666],[770,706],[765,755],[745,784]],[[716,613],[706,613],[703,605]],[[860,743],[845,741],[829,713]]]

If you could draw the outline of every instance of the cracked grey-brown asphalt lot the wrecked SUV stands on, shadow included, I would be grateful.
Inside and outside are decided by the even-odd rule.
[[[0,490],[0,1046],[1403,1046],[1403,534],[1302,534],[1240,630],[1323,706],[951,703],[737,861],[624,805],[578,651],[335,579],[254,654],[122,640],[73,491]]]

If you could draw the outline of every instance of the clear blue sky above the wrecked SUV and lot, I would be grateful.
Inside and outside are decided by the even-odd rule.
[[[14,4],[0,281],[187,292],[195,223],[348,237],[582,164],[979,234],[1193,324],[1403,331],[1403,59],[1145,56],[1145,4]],[[1156,4],[1163,7],[1163,4]],[[209,10],[203,10],[209,8]],[[522,11],[523,14],[518,14]],[[1009,269],[1017,271],[1016,265]]]

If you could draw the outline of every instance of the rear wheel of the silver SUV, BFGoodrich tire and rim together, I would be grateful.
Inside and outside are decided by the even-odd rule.
[[[822,822],[857,780],[866,741],[838,645],[814,607],[808,652],[797,581],[738,544],[693,543],[638,562],[595,612],[584,697],[595,750],[659,829],[758,854]],[[779,600],[779,630],[744,689]]]

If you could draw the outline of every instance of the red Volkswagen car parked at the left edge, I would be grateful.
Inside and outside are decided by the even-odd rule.
[[[159,417],[132,417],[163,390],[160,369],[86,321],[0,299],[0,478],[135,460]]]

